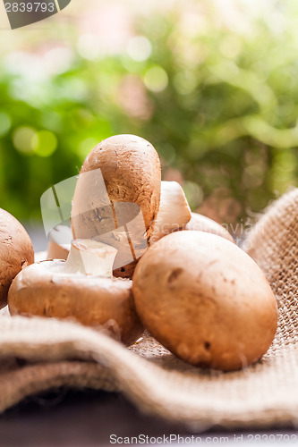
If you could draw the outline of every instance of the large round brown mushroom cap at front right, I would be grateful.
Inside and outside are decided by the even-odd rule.
[[[192,365],[236,370],[273,341],[276,298],[260,267],[229,240],[171,233],[141,257],[132,282],[142,323]]]

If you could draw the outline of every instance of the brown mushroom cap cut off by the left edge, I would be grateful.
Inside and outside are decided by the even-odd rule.
[[[21,269],[34,262],[30,237],[21,223],[0,208],[0,308],[7,304],[7,292]]]

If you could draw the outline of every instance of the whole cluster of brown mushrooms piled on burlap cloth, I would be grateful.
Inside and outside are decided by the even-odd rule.
[[[277,302],[260,267],[191,212],[178,183],[161,181],[145,139],[117,135],[87,156],[72,238],[52,238],[48,260],[33,264],[29,236],[0,210],[0,307],[72,319],[126,345],[145,327],[177,357],[223,371],[257,361],[273,341]]]

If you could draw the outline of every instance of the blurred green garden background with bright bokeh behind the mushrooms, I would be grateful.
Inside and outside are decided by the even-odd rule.
[[[298,186],[297,20],[296,0],[72,0],[0,30],[0,207],[38,225],[45,190],[133,133],[243,232]]]

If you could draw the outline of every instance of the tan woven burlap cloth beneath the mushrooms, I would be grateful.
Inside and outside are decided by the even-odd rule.
[[[0,316],[0,411],[53,387],[123,392],[139,409],[195,429],[298,421],[298,190],[269,208],[247,239],[279,305],[277,336],[257,364],[204,371],[149,336],[130,349],[81,325]]]

